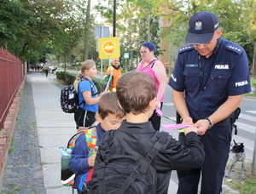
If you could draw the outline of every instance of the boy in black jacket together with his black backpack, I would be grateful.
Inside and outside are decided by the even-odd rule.
[[[126,120],[118,130],[104,134],[87,193],[166,194],[172,169],[201,167],[204,151],[196,128],[185,128],[185,147],[148,122],[156,100],[152,77],[142,71],[127,72],[119,78],[116,94]],[[134,158],[135,166],[130,168]]]

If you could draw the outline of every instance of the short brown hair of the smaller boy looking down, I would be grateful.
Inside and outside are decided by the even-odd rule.
[[[104,119],[108,114],[114,114],[118,118],[125,117],[125,111],[120,108],[117,96],[114,92],[103,94],[99,100],[98,113]]]

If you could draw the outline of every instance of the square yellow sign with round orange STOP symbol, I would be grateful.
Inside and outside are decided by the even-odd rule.
[[[99,57],[101,60],[120,57],[119,37],[98,38]]]

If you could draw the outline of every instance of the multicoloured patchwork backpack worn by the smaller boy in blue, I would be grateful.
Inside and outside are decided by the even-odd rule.
[[[96,140],[97,140],[97,129],[96,127],[88,128],[85,131],[79,132],[74,134],[70,140],[68,140],[67,148],[70,148],[72,151],[76,145],[76,140],[78,140],[81,134],[85,135],[85,140],[87,142],[87,151],[89,152],[89,157],[94,153],[96,149]],[[91,178],[93,173],[93,168],[89,169],[89,173],[87,177]],[[65,171],[61,170],[61,184],[65,186],[72,186],[75,189],[75,175],[73,172],[68,168]]]

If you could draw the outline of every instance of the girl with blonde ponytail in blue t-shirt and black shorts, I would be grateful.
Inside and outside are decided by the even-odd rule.
[[[98,102],[107,92],[102,92],[97,96],[97,88],[92,79],[96,77],[96,65],[93,60],[85,60],[81,65],[73,85],[75,91],[79,94],[79,109],[74,113],[74,120],[77,123],[77,129],[83,131],[90,126],[94,126],[96,122],[96,111],[98,110]]]

